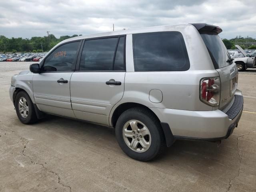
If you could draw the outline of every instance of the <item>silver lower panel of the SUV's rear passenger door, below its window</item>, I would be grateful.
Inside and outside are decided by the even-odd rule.
[[[124,76],[125,72],[74,72],[70,93],[76,118],[108,124],[110,110],[124,94]],[[107,85],[111,79],[121,85]]]

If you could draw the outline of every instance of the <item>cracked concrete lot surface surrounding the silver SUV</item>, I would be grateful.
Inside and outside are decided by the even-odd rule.
[[[10,77],[27,63],[0,63],[0,191],[256,192],[256,70],[239,75],[244,112],[234,133],[212,142],[176,141],[152,162],[119,148],[114,129],[48,116],[18,120]]]

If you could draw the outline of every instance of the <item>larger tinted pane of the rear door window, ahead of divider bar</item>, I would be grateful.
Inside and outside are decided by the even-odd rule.
[[[80,71],[113,70],[118,38],[86,40],[80,61]]]

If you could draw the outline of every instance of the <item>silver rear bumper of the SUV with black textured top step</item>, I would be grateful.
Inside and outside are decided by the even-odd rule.
[[[228,138],[237,126],[243,110],[243,96],[236,95],[230,109],[214,111],[186,111],[151,108],[161,122],[170,127],[175,139],[222,140]]]

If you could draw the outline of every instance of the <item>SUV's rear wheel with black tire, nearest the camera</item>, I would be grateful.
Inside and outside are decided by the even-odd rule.
[[[116,139],[124,153],[139,161],[156,158],[166,146],[159,120],[144,108],[131,108],[120,115]]]

